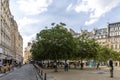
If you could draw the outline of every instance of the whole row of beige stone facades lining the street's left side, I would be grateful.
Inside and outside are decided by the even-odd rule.
[[[0,58],[22,61],[23,39],[9,9],[9,0],[0,0]]]

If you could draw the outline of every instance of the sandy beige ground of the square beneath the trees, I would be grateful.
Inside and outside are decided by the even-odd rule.
[[[73,69],[69,70],[68,72],[65,72],[63,69],[59,69],[58,72],[54,72],[53,70],[44,71],[47,73],[48,80],[120,80],[120,69],[114,70],[114,78],[110,78],[108,69]]]

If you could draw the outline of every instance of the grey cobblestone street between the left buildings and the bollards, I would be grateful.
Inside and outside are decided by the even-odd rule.
[[[32,64],[26,64],[2,77],[0,80],[37,80],[36,71]]]

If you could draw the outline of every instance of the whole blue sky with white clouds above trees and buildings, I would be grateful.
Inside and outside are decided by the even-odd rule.
[[[23,37],[23,48],[53,22],[63,22],[75,32],[120,22],[120,0],[10,0],[9,5]]]

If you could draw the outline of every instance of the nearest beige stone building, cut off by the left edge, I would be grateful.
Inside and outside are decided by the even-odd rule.
[[[8,0],[0,0],[0,48],[4,57],[12,57],[11,51],[11,12]]]

